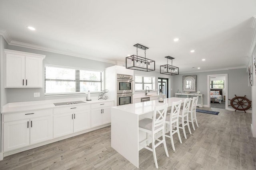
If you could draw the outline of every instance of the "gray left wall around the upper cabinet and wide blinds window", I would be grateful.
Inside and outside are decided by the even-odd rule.
[[[68,55],[62,55],[57,53],[51,53],[47,51],[40,51],[35,49],[28,49],[24,47],[18,47],[13,45],[8,45],[7,49],[16,50],[16,51],[24,51],[28,53],[36,53],[46,55],[43,64],[51,64],[58,66],[69,66],[76,68],[86,68],[92,70],[105,70],[106,67],[113,66],[111,63],[104,63],[100,61],[94,61],[89,59],[83,59],[80,57],[73,57]],[[43,71],[44,74],[44,71]],[[44,76],[43,76],[44,82]],[[40,92],[40,97],[34,98],[34,93]],[[94,94],[98,96],[98,94]],[[93,95],[92,95],[93,96]],[[85,97],[85,95],[74,95],[70,98],[80,98]],[[6,99],[7,102],[27,102],[27,101],[35,101],[35,100],[53,100],[53,99],[62,99],[67,98],[67,96],[44,96],[44,84],[43,88],[6,88]]]

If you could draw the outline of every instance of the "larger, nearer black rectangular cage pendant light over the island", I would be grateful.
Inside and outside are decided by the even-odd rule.
[[[140,44],[135,44],[137,55],[131,55],[126,57],[125,65],[126,68],[132,70],[140,70],[140,71],[154,71],[155,70],[155,61],[146,58],[146,50],[148,47],[145,47]],[[138,56],[138,48],[144,50],[145,57]]]

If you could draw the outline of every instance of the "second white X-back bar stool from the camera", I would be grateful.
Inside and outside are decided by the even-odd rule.
[[[169,135],[165,135],[165,136],[169,137],[171,139],[173,150],[175,150],[173,137],[172,137],[172,135],[174,133],[178,133],[180,143],[182,143],[181,138],[180,138],[180,130],[178,128],[179,127],[180,106],[181,106],[181,100],[178,102],[172,102],[171,113],[167,113],[166,121],[165,121],[165,123],[167,124],[167,128],[169,125],[169,133],[170,133],[170,136]],[[176,125],[174,123],[176,123]],[[176,130],[173,129],[174,126],[176,127]]]

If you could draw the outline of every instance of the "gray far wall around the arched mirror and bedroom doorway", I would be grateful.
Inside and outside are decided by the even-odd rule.
[[[228,96],[226,96],[226,102],[230,105],[228,99],[232,99],[236,96],[244,96],[249,100],[252,100],[252,89],[248,86],[248,73],[246,68],[230,69],[222,71],[212,72],[198,72],[189,74],[179,74],[174,76],[174,92],[178,89],[182,92],[182,76],[196,75],[196,91],[200,90],[201,94],[204,94],[204,105],[207,104],[207,75],[213,74],[228,74]]]

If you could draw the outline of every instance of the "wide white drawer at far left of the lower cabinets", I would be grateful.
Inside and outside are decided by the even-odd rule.
[[[4,114],[4,122],[52,115],[52,109]]]

